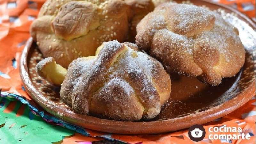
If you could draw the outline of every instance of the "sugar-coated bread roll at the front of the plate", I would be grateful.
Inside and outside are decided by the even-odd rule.
[[[170,97],[171,80],[161,63],[131,43],[110,41],[96,56],[74,60],[60,97],[76,113],[115,120],[152,119]]]

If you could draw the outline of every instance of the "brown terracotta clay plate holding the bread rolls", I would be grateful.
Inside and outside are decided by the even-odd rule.
[[[236,76],[223,79],[219,86],[208,86],[196,78],[172,74],[169,101],[155,119],[147,122],[114,121],[76,114],[60,100],[60,87],[53,86],[36,74],[36,63],[43,57],[30,38],[20,64],[21,78],[27,92],[41,107],[56,117],[81,127],[110,133],[170,132],[227,115],[255,95],[255,24],[243,14],[226,6],[199,0],[191,2],[219,12],[224,19],[238,28],[246,49],[244,67]]]

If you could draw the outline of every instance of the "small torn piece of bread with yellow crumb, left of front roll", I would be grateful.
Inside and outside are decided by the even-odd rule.
[[[52,57],[48,57],[36,65],[36,72],[54,85],[60,85],[67,74],[67,69],[57,64]]]

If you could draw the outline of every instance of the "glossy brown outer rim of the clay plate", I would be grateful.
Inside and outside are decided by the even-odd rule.
[[[194,2],[194,1],[193,1]],[[244,14],[238,12],[237,10],[230,8],[226,5],[215,4],[208,1],[199,1],[202,3],[208,3],[215,7],[228,10],[229,12],[236,13],[240,18],[242,18],[247,24],[255,29],[255,24],[246,17]],[[196,3],[196,2],[195,2]],[[183,116],[179,118],[172,118],[167,120],[149,121],[149,122],[127,122],[127,121],[115,121],[108,119],[101,119],[94,116],[76,114],[70,112],[67,109],[53,105],[51,108],[47,107],[49,105],[48,100],[35,88],[32,84],[31,79],[28,74],[28,53],[31,50],[33,39],[29,38],[26,46],[22,52],[20,59],[20,76],[24,87],[28,94],[35,100],[42,108],[51,113],[52,115],[61,118],[62,120],[75,124],[84,128],[97,130],[101,132],[109,133],[121,133],[121,134],[149,134],[149,133],[163,133],[177,131],[184,128],[188,128],[193,124],[205,124],[222,116],[225,116],[237,108],[244,105],[246,102],[255,96],[255,80],[250,84],[244,91],[239,93],[235,98],[228,100],[218,106],[204,110],[202,112]],[[59,115],[61,112],[63,115]]]

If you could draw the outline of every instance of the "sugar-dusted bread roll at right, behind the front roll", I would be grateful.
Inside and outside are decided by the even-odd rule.
[[[244,64],[238,30],[216,12],[164,3],[137,26],[136,44],[172,71],[218,85]]]

